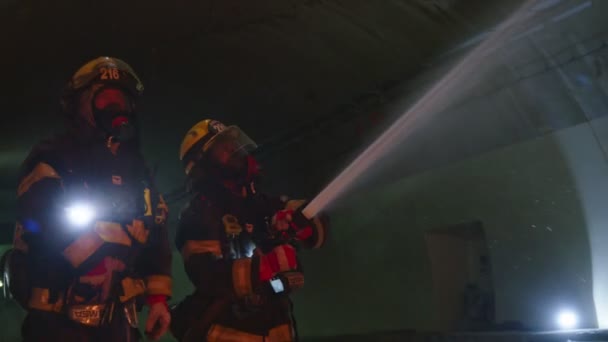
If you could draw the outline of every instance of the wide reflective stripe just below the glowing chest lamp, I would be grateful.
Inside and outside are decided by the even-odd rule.
[[[81,235],[63,250],[63,256],[73,267],[78,267],[106,242],[131,246],[131,239],[119,223],[97,221],[93,230]]]

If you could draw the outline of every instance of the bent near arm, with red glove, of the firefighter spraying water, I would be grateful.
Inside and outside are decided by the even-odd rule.
[[[279,275],[298,269],[292,246],[281,244],[266,254],[256,250],[251,258],[231,260],[222,255],[222,234],[225,235],[222,217],[199,200],[191,203],[180,215],[176,246],[182,253],[190,281],[201,293],[223,298],[272,294],[279,291],[271,281],[287,276],[293,284],[292,289],[297,288],[301,277]],[[289,286],[284,286],[283,290],[289,290]]]

